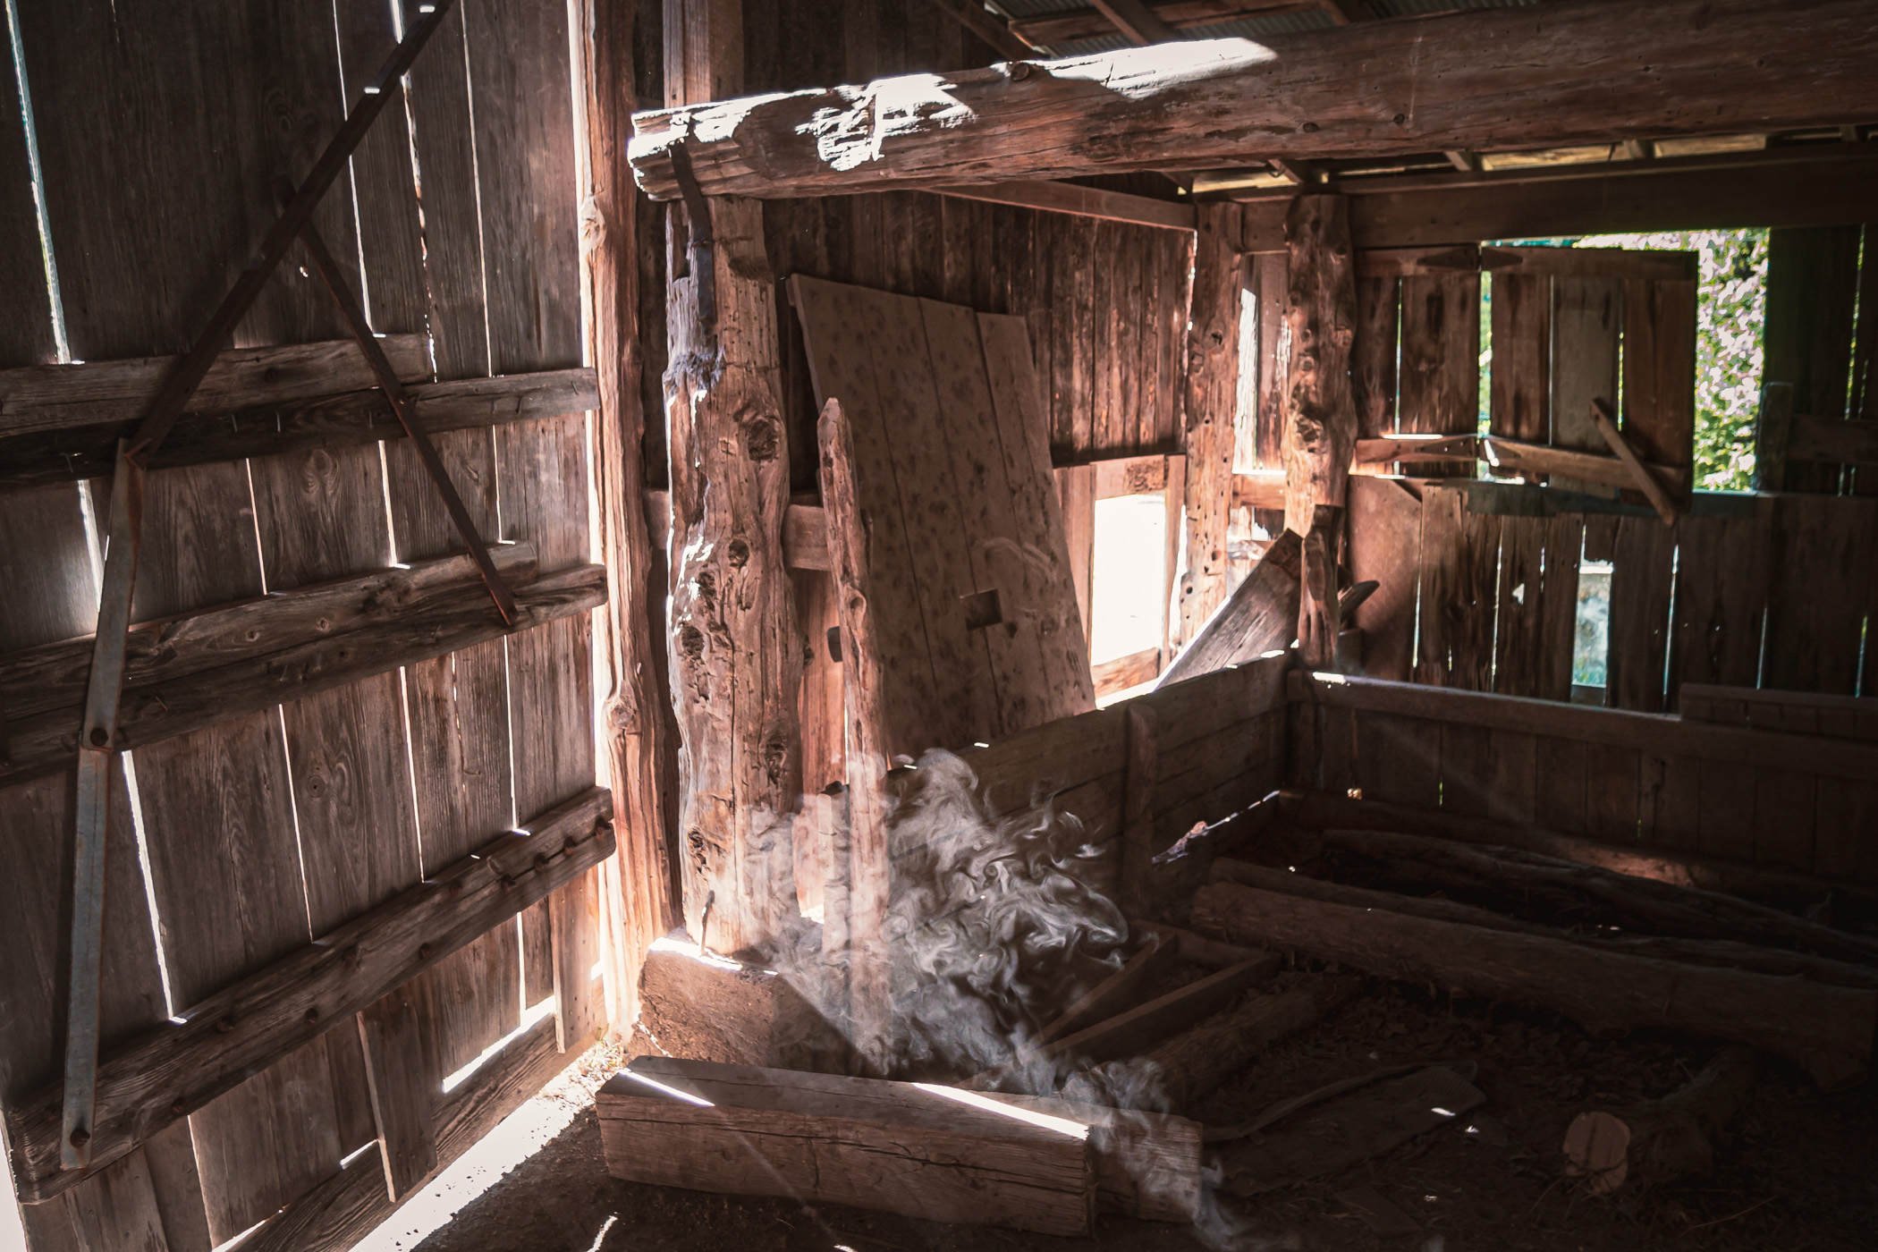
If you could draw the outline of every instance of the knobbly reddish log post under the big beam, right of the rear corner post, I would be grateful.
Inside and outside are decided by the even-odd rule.
[[[1300,195],[1285,214],[1290,377],[1285,383],[1285,529],[1305,537],[1298,657],[1337,661],[1337,531],[1356,449],[1350,345],[1356,338],[1356,257],[1341,195]]]

